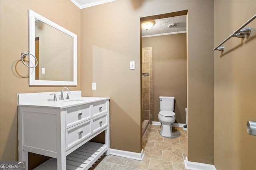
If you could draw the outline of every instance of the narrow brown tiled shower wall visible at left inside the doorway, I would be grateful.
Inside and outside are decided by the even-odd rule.
[[[150,124],[153,118],[152,80],[152,47],[146,47],[142,48],[142,121],[149,120]]]

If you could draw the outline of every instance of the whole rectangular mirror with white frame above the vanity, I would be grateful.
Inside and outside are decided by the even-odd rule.
[[[32,10],[29,13],[29,52],[38,60],[29,68],[29,85],[77,85],[77,35]],[[29,66],[34,66],[29,57]]]

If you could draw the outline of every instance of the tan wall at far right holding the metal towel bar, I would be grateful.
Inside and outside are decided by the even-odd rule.
[[[241,6],[242,4],[242,6]],[[227,10],[228,9],[228,10]],[[256,1],[214,1],[214,45],[255,15]],[[218,170],[255,170],[256,20],[249,37],[231,38],[214,52],[214,165]]]

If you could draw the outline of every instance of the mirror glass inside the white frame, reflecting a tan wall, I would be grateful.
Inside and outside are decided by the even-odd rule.
[[[73,37],[35,20],[36,80],[73,81]]]

